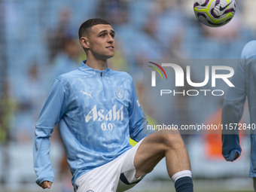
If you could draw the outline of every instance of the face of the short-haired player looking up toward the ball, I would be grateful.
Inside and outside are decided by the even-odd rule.
[[[96,59],[114,56],[114,29],[110,25],[93,26],[88,37],[90,52]]]

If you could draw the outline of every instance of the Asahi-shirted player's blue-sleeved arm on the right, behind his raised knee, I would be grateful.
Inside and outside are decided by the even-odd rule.
[[[148,124],[148,120],[145,117],[145,114],[142,111],[142,107],[139,104],[139,99],[136,94],[136,89],[131,83],[131,93],[132,98],[129,106],[129,120],[130,120],[130,138],[139,142],[146,136],[154,133],[154,130],[149,129],[151,127]]]

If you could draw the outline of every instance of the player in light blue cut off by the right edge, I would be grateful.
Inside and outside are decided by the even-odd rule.
[[[233,85],[224,97],[222,123],[227,126],[239,123],[242,118],[246,97],[250,113],[250,126],[256,124],[256,41],[250,41],[242,50],[241,60],[233,76]],[[231,123],[231,124],[230,124]],[[251,127],[251,128],[249,128]],[[255,127],[254,127],[255,128]],[[253,129],[254,129],[253,128]],[[251,169],[256,192],[256,135],[251,131]],[[222,131],[222,154],[227,161],[236,160],[241,154],[239,130],[236,128]]]

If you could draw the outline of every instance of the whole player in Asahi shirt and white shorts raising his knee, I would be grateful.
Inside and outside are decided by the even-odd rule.
[[[87,20],[79,39],[87,60],[56,78],[35,126],[36,183],[50,188],[53,182],[49,137],[59,123],[75,191],[129,189],[163,157],[176,191],[193,191],[181,136],[147,130],[132,78],[108,68],[114,56],[114,29],[105,20]],[[139,142],[133,148],[130,138]]]

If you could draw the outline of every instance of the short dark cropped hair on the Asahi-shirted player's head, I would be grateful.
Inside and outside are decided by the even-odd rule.
[[[99,24],[110,25],[110,23],[108,23],[107,20],[102,20],[99,18],[87,20],[84,23],[82,23],[79,28],[79,31],[78,31],[79,39],[81,39],[81,37],[84,35],[89,35],[90,29],[92,28],[92,26],[96,26]]]

